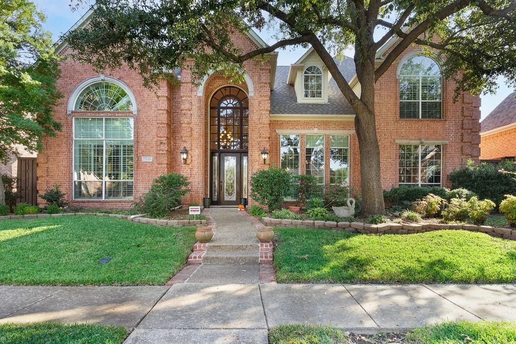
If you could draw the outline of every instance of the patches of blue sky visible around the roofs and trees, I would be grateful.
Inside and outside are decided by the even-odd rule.
[[[44,27],[51,31],[54,39],[57,40],[61,34],[66,32],[73,24],[86,12],[87,7],[79,8],[77,11],[72,11],[70,8],[70,0],[33,0],[38,6],[38,9],[42,10],[47,20]],[[271,42],[270,35],[267,32],[258,32],[258,34],[267,43]],[[295,62],[301,55],[303,55],[304,49],[295,50],[280,50],[278,57],[278,64],[288,65]],[[482,95],[482,106],[480,108],[482,113],[482,119],[485,118],[496,105],[502,102],[512,90],[507,87],[505,80],[499,78],[499,88],[495,94]]]

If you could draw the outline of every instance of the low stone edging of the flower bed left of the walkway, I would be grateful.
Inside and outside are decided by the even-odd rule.
[[[63,212],[61,214],[34,214],[34,215],[7,215],[0,216],[0,220],[20,220],[20,219],[45,219],[50,217],[60,217],[60,216],[79,216],[79,215],[88,215],[88,216],[107,216],[117,219],[124,219],[133,222],[139,223],[148,223],[155,224],[158,226],[199,226],[206,225],[206,220],[167,220],[167,219],[150,219],[146,217],[137,217],[132,218],[128,215],[122,214],[103,214],[101,212]]]

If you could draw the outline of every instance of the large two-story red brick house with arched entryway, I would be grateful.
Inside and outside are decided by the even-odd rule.
[[[247,51],[265,45],[253,31],[234,39]],[[396,42],[381,48],[379,61]],[[65,42],[56,52],[70,54]],[[385,189],[449,186],[447,175],[479,156],[479,97],[464,93],[453,103],[455,84],[420,53],[408,48],[376,86]],[[158,175],[179,172],[191,183],[185,203],[207,196],[237,205],[251,175],[271,165],[313,174],[320,185],[360,188],[360,169],[368,167],[360,163],[354,111],[328,69],[312,49],[291,65],[277,65],[277,57],[246,61],[240,85],[214,71],[194,87],[188,69],[174,71],[160,82],[159,98],[128,68],[99,75],[64,60],[65,101],[55,110],[63,130],[45,138],[38,155],[40,191],[59,184],[74,206],[127,207]],[[337,63],[359,94],[353,59]]]

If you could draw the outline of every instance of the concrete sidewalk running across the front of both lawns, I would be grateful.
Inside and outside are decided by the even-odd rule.
[[[204,284],[0,287],[0,323],[89,322],[136,330],[127,343],[266,343],[284,323],[370,333],[442,320],[516,321],[516,286]]]

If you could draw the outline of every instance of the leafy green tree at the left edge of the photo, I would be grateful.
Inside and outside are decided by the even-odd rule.
[[[60,93],[58,57],[45,17],[27,0],[0,0],[0,162],[17,154],[15,144],[40,152],[44,135],[61,125],[52,118]],[[5,203],[0,183],[0,204]]]

